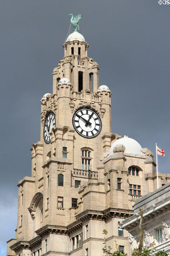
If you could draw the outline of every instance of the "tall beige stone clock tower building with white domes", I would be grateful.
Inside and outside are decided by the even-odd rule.
[[[18,183],[16,239],[7,256],[102,255],[108,245],[130,252],[119,222],[136,199],[156,189],[153,153],[111,132],[111,90],[78,32],[68,36],[53,71],[53,93],[41,99],[40,141],[31,177]],[[159,174],[159,185],[170,175]]]

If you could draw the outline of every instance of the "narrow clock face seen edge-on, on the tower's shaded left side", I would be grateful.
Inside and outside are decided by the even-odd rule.
[[[48,116],[45,118],[45,125],[44,125],[44,141],[46,144],[51,142],[50,132],[52,128],[56,126],[56,118],[53,112],[49,113]]]

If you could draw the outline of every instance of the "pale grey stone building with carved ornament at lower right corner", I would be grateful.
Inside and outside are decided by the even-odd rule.
[[[140,208],[143,209],[142,229],[143,247],[155,252],[164,250],[170,255],[170,183],[139,198],[134,206],[134,215],[122,221],[121,227],[133,236],[129,236],[130,250],[139,246]]]

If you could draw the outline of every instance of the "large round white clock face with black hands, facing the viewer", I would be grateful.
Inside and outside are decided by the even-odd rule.
[[[91,108],[80,108],[73,115],[73,126],[77,133],[88,139],[97,137],[102,130],[102,121]]]

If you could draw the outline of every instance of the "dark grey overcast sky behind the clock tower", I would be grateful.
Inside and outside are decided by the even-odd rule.
[[[170,5],[158,0],[0,0],[0,256],[15,238],[17,183],[31,175],[40,140],[40,99],[52,93],[63,58],[68,14],[83,14],[80,33],[99,64],[99,85],[112,91],[112,132],[127,134],[170,173]],[[73,32],[73,28],[72,28]]]

